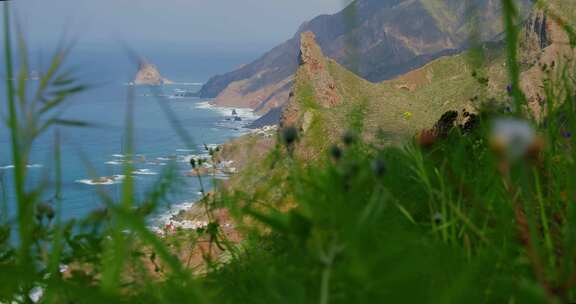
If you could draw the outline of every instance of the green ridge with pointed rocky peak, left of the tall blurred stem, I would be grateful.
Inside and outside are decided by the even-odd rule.
[[[346,134],[377,146],[405,143],[433,127],[447,111],[472,112],[493,100],[507,100],[503,50],[499,44],[485,45],[481,54],[443,57],[375,84],[325,57],[314,33],[302,33],[300,65],[280,126],[297,130],[294,156],[307,161],[328,157],[326,152]],[[275,147],[269,138],[247,138],[250,140],[238,141],[240,145],[250,143],[241,149],[243,153],[227,153],[230,159],[245,163],[251,149],[254,155],[262,155],[263,146],[269,151]],[[225,147],[224,152],[231,148]],[[286,170],[274,164],[270,158],[253,160],[228,185],[232,189],[266,189],[268,178],[277,180],[274,176],[284,176],[279,172]],[[273,170],[264,169],[269,166]]]

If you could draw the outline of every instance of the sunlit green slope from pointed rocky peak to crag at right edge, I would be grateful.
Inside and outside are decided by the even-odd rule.
[[[533,103],[538,103],[539,109],[545,106],[542,83],[546,79],[563,81],[566,75],[562,73],[572,66],[567,59],[574,58],[570,34],[559,21],[568,20],[566,26],[572,26],[573,19],[565,16],[575,10],[560,12],[559,5],[564,7],[562,2],[547,3],[545,8],[537,6],[521,22],[520,79],[531,112]],[[476,113],[484,107],[514,108],[503,42],[484,43],[394,79],[372,83],[325,57],[314,33],[304,32],[300,39],[299,67],[280,126],[298,130],[296,154],[302,159],[326,158],[331,145],[347,133],[378,146],[401,144],[432,128],[449,111],[459,112],[458,119],[463,121],[467,120],[462,117],[464,113]],[[542,60],[548,61],[548,68]],[[550,67],[552,61],[558,62],[555,68]],[[537,82],[530,83],[530,79]],[[259,151],[255,155],[262,155],[263,146],[270,150],[274,147],[269,139],[262,139],[265,145],[259,144],[257,136],[252,136],[250,142],[240,158],[251,155],[251,149]],[[229,157],[233,159],[234,153]],[[265,188],[262,181],[267,174],[274,175],[274,170],[262,170],[259,162],[254,163],[255,168],[232,178],[231,185],[238,183],[232,188],[251,189],[252,183]]]

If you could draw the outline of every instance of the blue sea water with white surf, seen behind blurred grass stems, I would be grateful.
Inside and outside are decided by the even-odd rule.
[[[62,137],[62,209],[64,219],[82,218],[91,211],[102,208],[96,194],[97,187],[119,198],[122,179],[117,178],[106,185],[94,185],[94,177],[109,177],[123,174],[122,161],[125,155],[125,117],[127,96],[134,89],[134,166],[136,198],[142,199],[160,178],[167,164],[174,162],[183,185],[179,191],[171,193],[154,217],[161,218],[164,212],[178,205],[195,201],[201,190],[197,178],[186,177],[190,170],[188,159],[192,155],[205,155],[205,145],[222,144],[247,132],[243,126],[254,119],[249,111],[239,111],[243,121],[226,120],[232,109],[215,108],[206,100],[197,98],[176,98],[177,90],[195,91],[198,83],[205,81],[210,74],[229,69],[241,58],[226,60],[190,58],[185,53],[166,52],[155,54],[163,76],[180,84],[160,88],[130,87],[126,83],[136,72],[133,62],[121,53],[85,52],[71,59],[71,66],[77,66],[80,80],[95,84],[89,91],[74,96],[66,107],[63,117],[93,123],[93,127],[60,127]],[[148,58],[150,60],[150,58]],[[221,58],[220,58],[221,59]],[[152,60],[151,60],[152,61]],[[210,70],[208,67],[213,61]],[[223,62],[224,61],[224,62]],[[158,63],[160,62],[160,63]],[[194,63],[197,63],[195,65]],[[203,67],[199,72],[194,67]],[[41,70],[41,68],[39,68]],[[5,90],[2,88],[2,114],[6,113]],[[177,117],[177,122],[193,139],[190,147],[178,136],[173,124],[166,117],[163,107]],[[5,193],[8,196],[8,214],[15,215],[14,191],[12,190],[12,157],[10,154],[9,130],[5,124],[0,127],[0,175],[4,179]],[[39,138],[29,161],[30,185],[37,184],[45,176],[53,175],[54,133]],[[88,168],[91,168],[88,170]],[[94,172],[90,172],[91,170]],[[205,179],[210,187],[210,179]],[[55,191],[53,184],[44,192],[43,199],[50,201]]]

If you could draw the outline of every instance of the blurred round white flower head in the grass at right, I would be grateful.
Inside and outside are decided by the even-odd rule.
[[[492,144],[510,159],[525,155],[536,139],[536,131],[525,120],[499,118],[492,124]]]

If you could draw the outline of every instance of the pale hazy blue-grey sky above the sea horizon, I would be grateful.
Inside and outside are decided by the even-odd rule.
[[[348,0],[349,1],[349,0]],[[57,41],[64,29],[81,43],[124,41],[259,50],[291,37],[316,15],[346,0],[17,0],[28,40]]]

